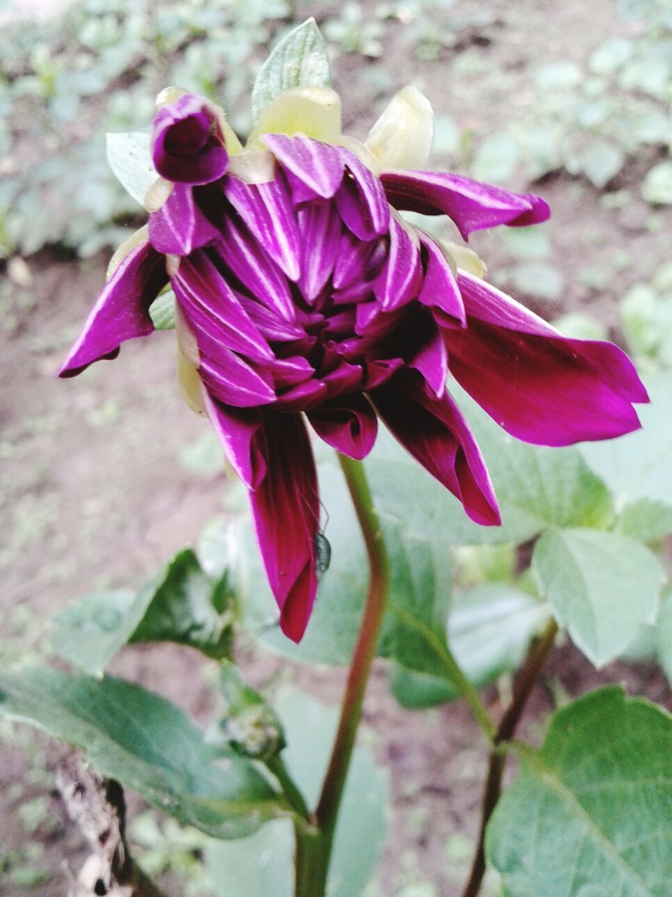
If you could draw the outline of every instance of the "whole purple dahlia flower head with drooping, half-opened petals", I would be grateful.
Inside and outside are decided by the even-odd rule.
[[[246,483],[280,625],[299,640],[317,588],[320,515],[306,420],[360,459],[380,419],[471,519],[496,525],[495,494],[449,375],[505,431],[540,445],[632,431],[633,402],[647,396],[615,345],[560,335],[462,271],[398,212],[448,215],[467,239],[545,221],[538,196],[384,170],[348,138],[261,133],[257,148],[240,152],[225,135],[205,100],[185,95],[159,110],[154,164],[172,189],[116,266],[60,375],[148,335],[151,302],[170,282],[190,402]]]

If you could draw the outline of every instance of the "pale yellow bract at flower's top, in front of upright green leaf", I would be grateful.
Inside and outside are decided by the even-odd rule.
[[[305,134],[326,144],[340,142],[340,97],[328,87],[293,87],[263,110],[247,141],[258,148],[263,134]]]

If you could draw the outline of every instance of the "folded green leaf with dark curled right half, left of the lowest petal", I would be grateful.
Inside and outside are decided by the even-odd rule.
[[[53,620],[52,648],[93,675],[102,673],[125,644],[139,641],[174,641],[210,657],[227,657],[232,637],[230,614],[222,613],[227,601],[226,579],[206,576],[187,549],[137,596],[101,592],[67,607]]]

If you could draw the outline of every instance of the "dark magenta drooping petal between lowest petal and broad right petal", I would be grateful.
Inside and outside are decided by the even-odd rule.
[[[371,398],[396,440],[483,526],[500,522],[495,492],[476,440],[452,397],[427,396],[422,380],[400,371]]]

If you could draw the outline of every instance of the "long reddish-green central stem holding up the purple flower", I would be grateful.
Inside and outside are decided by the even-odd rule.
[[[322,794],[314,814],[318,831],[314,835],[297,831],[296,897],[323,897],[324,894],[340,798],[343,795],[350,758],[355,746],[366,683],[383,623],[390,580],[387,550],[366,482],[364,467],[359,462],[342,455],[339,455],[339,460],[364,536],[370,579],[364,616],[340,709],[339,727],[329,767],[324,776]]]

